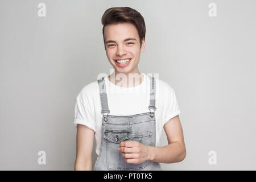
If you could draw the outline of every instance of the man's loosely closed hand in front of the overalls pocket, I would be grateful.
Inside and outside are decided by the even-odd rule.
[[[121,142],[118,151],[122,152],[126,163],[140,164],[149,159],[149,146],[136,141]]]

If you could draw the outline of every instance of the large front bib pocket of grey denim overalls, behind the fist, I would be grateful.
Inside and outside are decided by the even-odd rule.
[[[130,134],[130,131],[105,131],[107,164],[110,170],[138,170],[146,167],[149,161],[141,164],[126,163],[117,148],[123,141],[137,141],[146,146],[151,145],[151,132]]]

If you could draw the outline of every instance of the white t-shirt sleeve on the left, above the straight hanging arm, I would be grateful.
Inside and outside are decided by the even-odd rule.
[[[75,119],[73,125],[77,127],[77,124],[85,125],[89,129],[96,131],[96,118],[92,106],[89,104],[88,97],[81,95],[76,97],[75,105]]]

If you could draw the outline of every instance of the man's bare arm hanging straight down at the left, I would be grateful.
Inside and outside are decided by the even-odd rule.
[[[92,170],[94,131],[85,125],[77,125],[75,171]]]

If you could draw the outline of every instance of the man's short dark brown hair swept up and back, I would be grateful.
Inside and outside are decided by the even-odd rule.
[[[131,9],[130,7],[111,7],[105,11],[101,18],[101,23],[103,24],[102,34],[105,49],[104,27],[108,24],[125,22],[134,24],[139,34],[139,42],[142,44],[142,39],[145,38],[146,35],[146,26],[143,16],[138,11]]]

